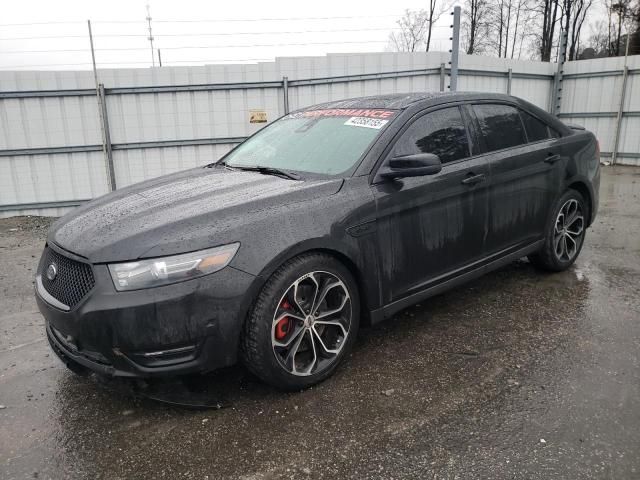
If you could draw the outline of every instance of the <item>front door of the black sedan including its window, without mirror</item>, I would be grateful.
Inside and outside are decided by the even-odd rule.
[[[377,203],[384,303],[391,303],[463,273],[482,258],[490,183],[485,158],[472,156],[460,106],[419,114],[401,132],[394,156],[433,153],[442,171],[381,179]]]

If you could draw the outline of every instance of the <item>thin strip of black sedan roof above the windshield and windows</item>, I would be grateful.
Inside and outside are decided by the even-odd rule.
[[[517,98],[498,93],[483,92],[419,92],[419,93],[396,93],[392,95],[373,95],[370,97],[348,98],[333,102],[313,105],[302,110],[324,110],[328,108],[388,108],[405,109],[416,103],[438,104],[455,102],[458,100],[510,100],[518,101]]]

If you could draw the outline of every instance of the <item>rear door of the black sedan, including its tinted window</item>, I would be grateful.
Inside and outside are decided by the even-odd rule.
[[[487,253],[539,239],[562,182],[561,151],[549,127],[513,105],[471,107],[491,169]]]

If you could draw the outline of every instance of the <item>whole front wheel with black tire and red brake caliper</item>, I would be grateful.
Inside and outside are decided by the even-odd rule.
[[[244,325],[240,358],[265,383],[301,390],[333,374],[353,346],[359,320],[351,272],[331,255],[303,254],[262,288]]]

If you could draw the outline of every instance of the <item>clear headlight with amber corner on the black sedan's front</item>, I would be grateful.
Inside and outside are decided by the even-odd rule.
[[[239,243],[231,243],[170,257],[113,263],[109,265],[109,272],[119,291],[158,287],[222,270],[233,259],[238,247]]]

